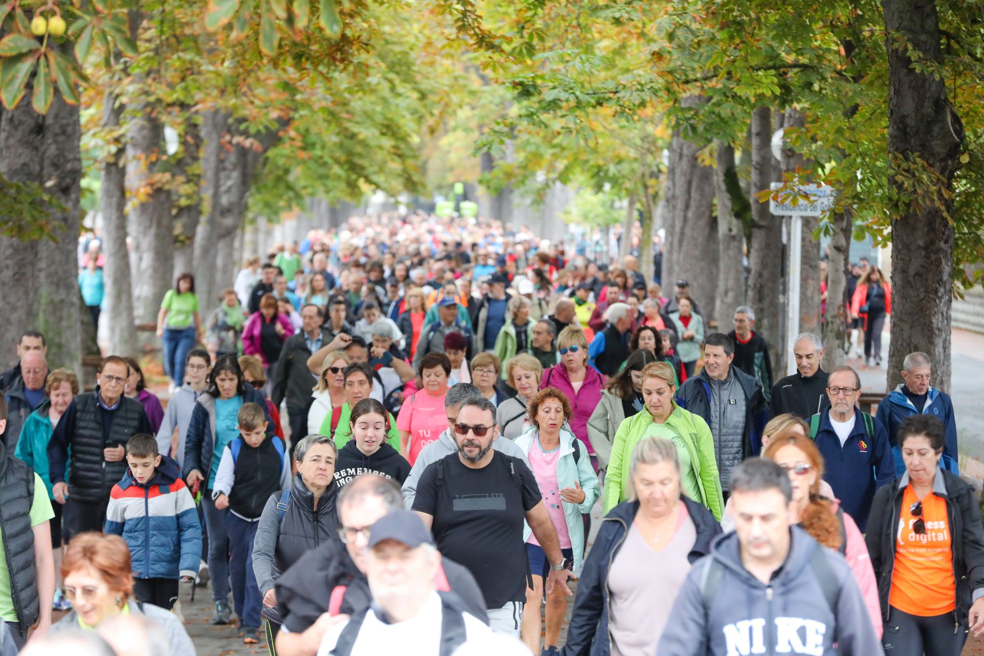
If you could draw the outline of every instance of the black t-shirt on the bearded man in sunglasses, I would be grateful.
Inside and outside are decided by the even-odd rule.
[[[471,571],[487,607],[502,608],[526,599],[523,520],[542,498],[523,460],[493,453],[481,469],[464,466],[458,453],[428,465],[413,509],[434,517],[438,551]]]

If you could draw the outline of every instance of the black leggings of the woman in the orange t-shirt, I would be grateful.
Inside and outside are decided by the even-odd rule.
[[[967,627],[954,626],[953,613],[922,618],[890,606],[882,645],[885,656],[960,656],[966,639]]]

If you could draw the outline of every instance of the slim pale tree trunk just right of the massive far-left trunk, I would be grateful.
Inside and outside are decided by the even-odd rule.
[[[122,108],[116,96],[107,92],[103,97],[102,125],[119,125]],[[133,288],[130,279],[130,255],[127,251],[126,169],[124,148],[114,149],[102,164],[99,186],[99,207],[102,211],[102,248],[106,254],[103,271],[106,283],[106,320],[109,331],[109,352],[114,355],[137,356],[137,335],[134,331]]]

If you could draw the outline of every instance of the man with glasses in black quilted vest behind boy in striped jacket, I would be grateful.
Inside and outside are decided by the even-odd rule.
[[[99,365],[93,391],[78,394],[61,416],[48,443],[51,490],[66,504],[65,541],[101,531],[113,486],[127,469],[126,443],[138,433],[155,434],[144,405],[126,396],[130,365],[118,355]],[[68,451],[72,468],[65,479]]]

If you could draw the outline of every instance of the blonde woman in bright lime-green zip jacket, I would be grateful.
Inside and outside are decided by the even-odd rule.
[[[674,380],[673,369],[665,362],[654,362],[643,370],[646,411],[623,421],[615,433],[605,474],[605,513],[632,499],[629,474],[632,450],[644,438],[664,438],[677,447],[683,493],[707,507],[714,519],[720,521],[724,503],[714,458],[714,438],[701,416],[684,410],[673,400]]]

